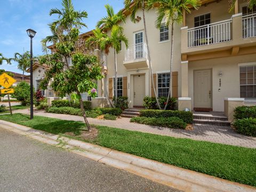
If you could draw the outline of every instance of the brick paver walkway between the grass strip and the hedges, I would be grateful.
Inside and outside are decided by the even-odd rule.
[[[14,113],[23,113],[29,114],[28,109],[16,110]],[[84,121],[83,117],[74,116],[74,115],[63,115],[63,114],[51,114],[45,113],[45,111],[35,111],[35,115],[59,118],[63,120],[72,120],[72,121]],[[215,143],[223,143],[226,145],[234,145],[241,147],[256,148],[256,138],[247,137],[242,134],[236,133],[229,126],[215,126],[215,125],[201,125],[194,124],[194,130],[182,130],[182,129],[169,129],[164,127],[143,125],[130,123],[130,118],[120,118],[116,121],[103,120],[103,119],[94,119],[88,118],[89,123],[95,125],[104,125],[110,127],[116,127],[125,130],[131,131],[140,131],[146,133],[153,133],[159,135],[167,135],[170,137],[176,138],[189,138],[199,141],[210,141]]]

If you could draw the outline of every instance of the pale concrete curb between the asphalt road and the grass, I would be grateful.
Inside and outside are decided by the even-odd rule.
[[[61,137],[60,135],[34,130],[30,127],[2,120],[0,120],[0,127],[49,145],[68,149],[73,153],[94,161],[140,175],[143,178],[162,183],[175,189],[183,191],[256,191],[256,188],[251,186],[215,178],[177,166],[159,163],[91,143]]]

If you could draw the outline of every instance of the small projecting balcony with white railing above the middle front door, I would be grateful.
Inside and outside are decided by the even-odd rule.
[[[148,68],[146,43],[129,46],[125,51],[125,59],[123,64],[126,69]]]

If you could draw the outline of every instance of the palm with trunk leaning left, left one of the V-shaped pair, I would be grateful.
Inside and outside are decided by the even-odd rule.
[[[125,9],[130,10],[131,12],[131,21],[135,21],[136,13],[141,9],[142,14],[143,14],[143,25],[144,25],[144,31],[145,31],[145,38],[146,38],[146,45],[147,45],[147,52],[148,52],[148,62],[149,62],[149,70],[151,74],[151,83],[153,85],[154,93],[156,95],[156,89],[155,89],[155,83],[154,83],[154,77],[153,77],[153,69],[152,69],[152,64],[151,64],[151,56],[149,52],[149,46],[148,46],[148,33],[147,33],[147,27],[146,27],[146,17],[145,17],[145,9],[150,9],[148,6],[150,0],[124,0],[125,4]],[[132,4],[132,6],[131,6]],[[157,106],[159,109],[161,109],[161,106],[159,105],[159,101],[157,99],[156,95],[156,101],[157,101]]]

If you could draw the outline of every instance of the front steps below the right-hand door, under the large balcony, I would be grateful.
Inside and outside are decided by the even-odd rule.
[[[230,126],[228,118],[223,115],[218,114],[193,114],[193,123],[195,124],[205,124],[205,125],[217,125],[217,126]]]

